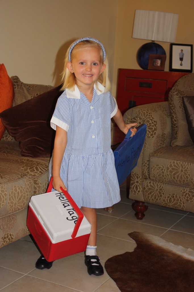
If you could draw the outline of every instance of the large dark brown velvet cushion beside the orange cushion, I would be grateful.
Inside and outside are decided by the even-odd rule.
[[[8,133],[19,141],[22,156],[49,157],[55,131],[50,120],[61,85],[0,113]]]

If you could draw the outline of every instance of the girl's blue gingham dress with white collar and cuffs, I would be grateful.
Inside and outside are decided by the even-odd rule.
[[[104,91],[104,86],[98,84]],[[96,86],[91,103],[75,86],[58,98],[51,119],[67,131],[60,177],[79,208],[105,208],[120,201],[120,190],[111,150],[111,117],[117,103],[110,92]],[[49,177],[52,173],[52,158]]]

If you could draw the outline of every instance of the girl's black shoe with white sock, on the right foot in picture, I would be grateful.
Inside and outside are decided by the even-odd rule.
[[[92,262],[91,260],[95,260]],[[88,274],[92,276],[102,276],[104,274],[103,267],[99,262],[98,256],[85,256],[85,265],[88,268]],[[96,264],[96,265],[92,265]]]

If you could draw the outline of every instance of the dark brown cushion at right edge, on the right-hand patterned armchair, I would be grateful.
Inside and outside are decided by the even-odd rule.
[[[194,143],[194,96],[184,96],[183,104],[188,124],[188,132]]]

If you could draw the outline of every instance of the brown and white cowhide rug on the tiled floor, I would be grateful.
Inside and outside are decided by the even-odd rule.
[[[122,292],[194,292],[194,251],[160,237],[132,232],[133,252],[109,258],[108,275]]]

